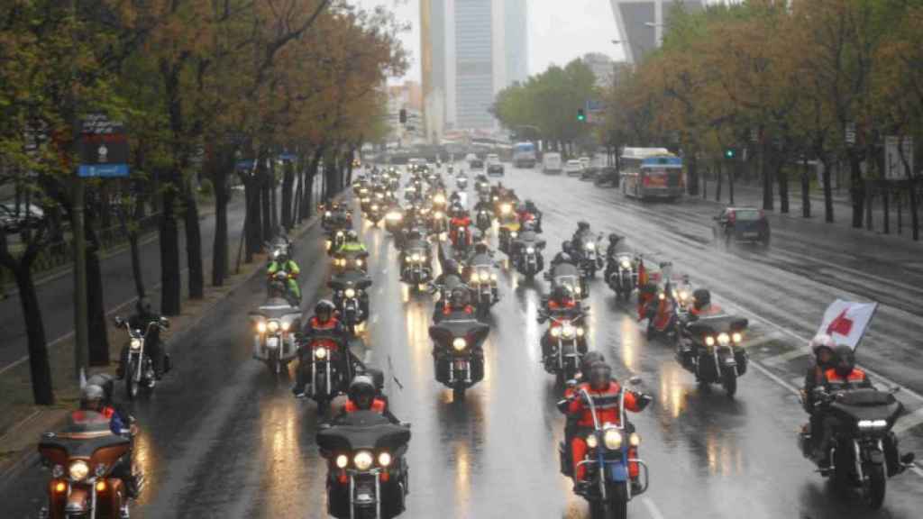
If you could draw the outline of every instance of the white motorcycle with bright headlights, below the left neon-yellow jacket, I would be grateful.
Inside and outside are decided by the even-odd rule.
[[[301,309],[288,305],[263,306],[248,315],[256,332],[253,357],[265,362],[272,373],[279,375],[298,355],[293,332],[300,328]]]

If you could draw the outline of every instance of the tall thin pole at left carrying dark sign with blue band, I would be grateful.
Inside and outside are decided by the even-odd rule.
[[[73,17],[71,21],[71,40],[75,42],[73,48],[77,48],[77,35],[75,31],[77,29],[77,0],[68,0],[70,3],[70,13]],[[71,63],[76,62],[73,60]],[[77,109],[77,96],[74,93],[74,82],[77,80],[76,70],[74,70],[74,65],[71,66],[71,88],[70,96],[71,103],[70,107],[72,110],[71,114],[71,124],[73,125],[74,131],[74,149],[78,151],[74,153],[75,157],[79,156],[79,136],[80,136],[80,123],[78,119],[78,109]],[[71,203],[71,215],[73,216],[73,226],[71,232],[73,233],[74,239],[74,331],[76,342],[74,344],[74,374],[77,379],[80,379],[80,373],[90,365],[90,348],[89,348],[89,333],[87,325],[87,244],[84,240],[84,229],[83,229],[83,180],[77,174],[77,164],[73,164],[75,167],[71,168],[70,174],[72,177],[72,195]]]

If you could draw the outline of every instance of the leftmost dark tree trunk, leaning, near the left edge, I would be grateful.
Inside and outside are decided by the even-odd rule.
[[[39,296],[32,282],[31,262],[20,263],[10,268],[19,289],[19,303],[26,320],[26,336],[29,341],[29,372],[32,380],[32,398],[36,405],[53,405],[52,368],[48,362],[48,346],[45,344],[45,327],[42,323],[42,308]]]

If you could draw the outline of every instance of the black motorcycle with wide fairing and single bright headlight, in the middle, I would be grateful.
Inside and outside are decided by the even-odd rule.
[[[465,315],[450,315],[429,327],[436,380],[451,388],[455,401],[484,379],[484,341],[490,327]]]

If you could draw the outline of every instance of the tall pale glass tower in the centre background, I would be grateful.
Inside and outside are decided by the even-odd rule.
[[[528,76],[527,1],[420,0],[428,139],[497,127],[497,92]]]

